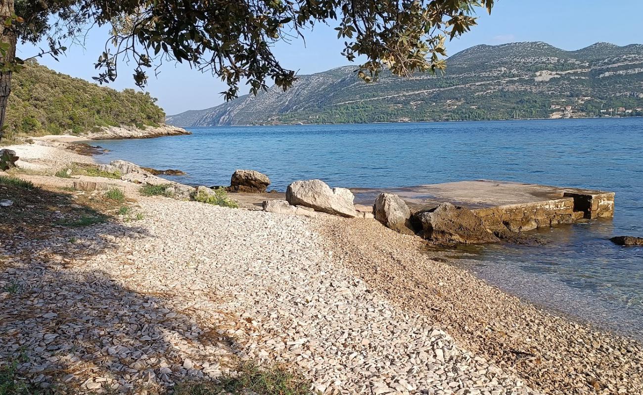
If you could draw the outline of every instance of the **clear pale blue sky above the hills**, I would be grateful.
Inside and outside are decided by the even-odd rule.
[[[478,26],[447,46],[448,54],[477,44],[503,44],[516,41],[544,41],[558,48],[574,50],[595,42],[617,45],[643,43],[643,0],[496,0],[491,15],[481,12]],[[335,26],[317,26],[303,42],[279,44],[275,48],[282,66],[310,74],[349,64],[341,57],[343,40],[336,39]],[[69,46],[60,62],[39,59],[56,71],[91,81],[96,75],[94,63],[102,53],[104,29],[95,28],[87,37],[85,48]],[[21,46],[19,57],[37,52]],[[203,75],[188,66],[166,63],[158,77],[151,76],[146,88],[167,114],[185,110],[205,109],[222,103],[224,84],[212,75]],[[119,78],[109,86],[115,89],[135,87],[131,70],[120,69]],[[240,93],[245,94],[245,87]]]

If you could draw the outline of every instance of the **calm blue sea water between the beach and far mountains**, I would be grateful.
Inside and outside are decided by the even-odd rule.
[[[319,178],[331,186],[392,188],[494,179],[616,192],[613,220],[561,225],[539,247],[455,251],[501,288],[643,339],[643,118],[376,125],[190,128],[191,136],[98,141],[99,161],[180,169],[186,184],[227,185],[237,168],[273,187]]]

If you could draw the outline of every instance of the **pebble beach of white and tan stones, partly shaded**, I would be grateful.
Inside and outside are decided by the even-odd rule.
[[[53,143],[11,148],[41,171],[91,162]],[[14,174],[42,188],[0,207],[0,367],[68,394],[164,394],[243,361],[282,364],[324,394],[643,392],[638,342],[523,303],[416,236],[148,197],[141,174]],[[345,191],[327,193],[322,209],[356,216],[334,201]],[[79,211],[104,220],[64,225]]]

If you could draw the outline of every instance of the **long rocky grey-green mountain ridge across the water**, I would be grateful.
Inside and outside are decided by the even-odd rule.
[[[177,126],[361,123],[643,115],[643,45],[597,43],[563,51],[544,42],[475,46],[444,75],[365,83],[345,66],[302,75],[206,110],[168,116]]]

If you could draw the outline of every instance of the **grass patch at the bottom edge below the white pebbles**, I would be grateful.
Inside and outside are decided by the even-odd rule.
[[[174,395],[313,395],[311,385],[302,378],[281,367],[260,369],[257,365],[246,364],[236,376],[223,376],[219,383],[184,382],[174,387]]]

